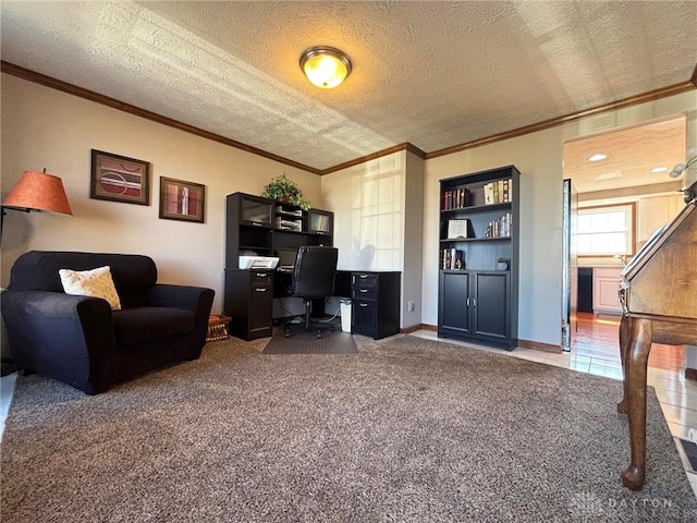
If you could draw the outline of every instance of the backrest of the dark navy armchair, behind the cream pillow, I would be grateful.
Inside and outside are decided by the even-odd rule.
[[[147,304],[147,291],[157,282],[157,267],[152,258],[138,254],[29,251],[12,266],[8,289],[63,292],[59,269],[88,270],[106,265],[111,267],[123,308]]]

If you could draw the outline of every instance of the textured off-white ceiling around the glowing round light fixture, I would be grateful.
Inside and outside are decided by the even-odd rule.
[[[690,80],[697,2],[0,2],[2,60],[322,170]],[[332,90],[301,52],[353,61]]]

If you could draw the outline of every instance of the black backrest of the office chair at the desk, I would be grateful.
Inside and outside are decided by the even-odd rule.
[[[298,297],[327,297],[334,292],[334,275],[339,250],[307,245],[297,250],[293,271],[293,295]]]

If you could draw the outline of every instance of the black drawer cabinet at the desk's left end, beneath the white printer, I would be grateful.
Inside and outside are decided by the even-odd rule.
[[[273,273],[266,270],[225,269],[225,315],[230,333],[244,340],[271,336]]]

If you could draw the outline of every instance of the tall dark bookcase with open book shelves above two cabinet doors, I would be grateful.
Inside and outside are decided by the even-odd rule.
[[[440,183],[438,336],[517,344],[519,172],[513,166]],[[498,259],[508,262],[497,270]]]

